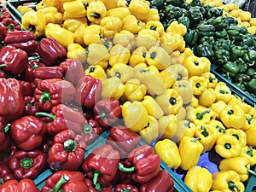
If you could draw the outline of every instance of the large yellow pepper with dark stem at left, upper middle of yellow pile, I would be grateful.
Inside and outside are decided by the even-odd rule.
[[[159,70],[171,66],[171,56],[168,55],[165,49],[158,46],[152,46],[148,49],[146,61],[148,65],[154,65]]]

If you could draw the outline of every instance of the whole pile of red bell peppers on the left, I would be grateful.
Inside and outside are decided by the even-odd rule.
[[[173,191],[160,156],[122,123],[119,100],[102,99],[102,81],[54,38],[7,30],[2,40],[0,191],[39,191],[32,179],[46,169],[42,192]],[[106,143],[84,158],[103,131]]]

